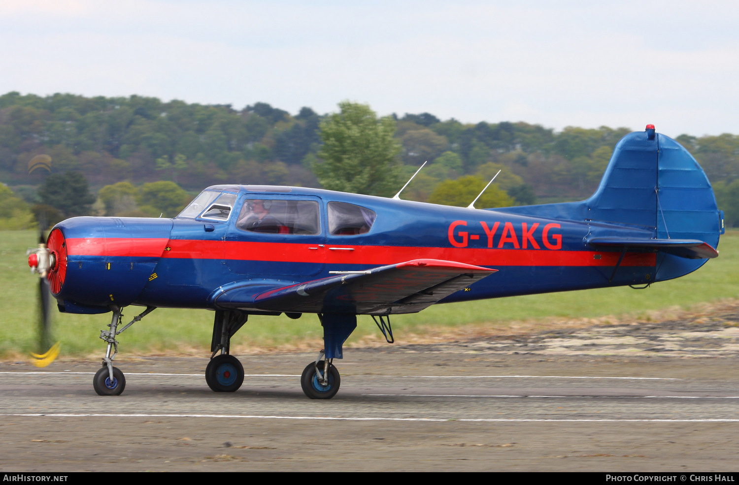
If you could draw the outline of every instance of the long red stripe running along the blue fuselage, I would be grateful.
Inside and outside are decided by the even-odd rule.
[[[353,244],[198,241],[161,238],[72,238],[69,255],[230,259],[316,264],[381,266],[418,258],[459,261],[477,266],[616,266],[621,252],[505,250],[474,247],[357,246]],[[169,250],[162,252],[163,247]],[[352,248],[352,251],[331,247]],[[316,249],[310,249],[316,248]],[[597,256],[600,258],[597,258]],[[627,252],[621,266],[655,266],[654,252]]]

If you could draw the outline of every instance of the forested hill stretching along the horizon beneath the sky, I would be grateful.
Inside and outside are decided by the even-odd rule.
[[[503,173],[497,185],[516,204],[585,198],[596,188],[613,146],[631,131],[463,124],[429,113],[394,118],[403,176],[431,162],[403,197],[432,202],[445,184],[453,191],[449,184],[463,176],[490,179],[498,169]],[[81,173],[92,193],[126,181],[139,200],[143,185],[157,181],[189,192],[221,183],[319,187],[312,168],[326,119],[307,107],[290,114],[267,103],[234,109],[135,95],[10,92],[0,96],[0,182],[19,198],[38,202],[35,188],[43,179],[39,171],[29,175],[28,168],[34,156],[44,154],[52,159],[52,173]],[[721,202],[728,207],[735,199],[739,205],[738,137],[681,134],[677,140],[701,162]],[[464,180],[469,185],[471,179]]]

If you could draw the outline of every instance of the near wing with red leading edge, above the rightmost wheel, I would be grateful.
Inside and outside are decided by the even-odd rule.
[[[245,284],[215,297],[223,309],[267,312],[415,313],[496,272],[482,266],[414,259],[273,289]],[[262,290],[262,291],[260,291]]]

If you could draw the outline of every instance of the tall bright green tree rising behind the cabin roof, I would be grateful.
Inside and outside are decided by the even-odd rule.
[[[324,145],[318,155],[323,162],[313,164],[313,173],[329,190],[392,196],[402,186],[395,120],[378,120],[364,104],[344,101],[338,106],[341,112],[321,123]]]

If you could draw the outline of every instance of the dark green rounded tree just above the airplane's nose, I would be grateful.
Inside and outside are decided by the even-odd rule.
[[[95,196],[87,179],[79,172],[52,173],[38,190],[41,203],[55,207],[62,216],[84,216],[89,213]]]

